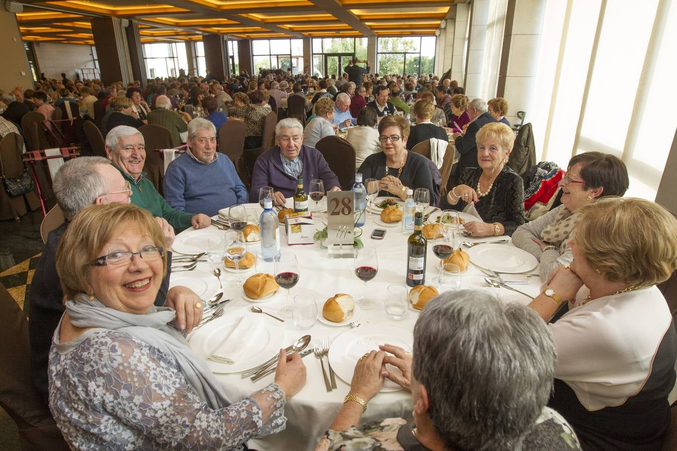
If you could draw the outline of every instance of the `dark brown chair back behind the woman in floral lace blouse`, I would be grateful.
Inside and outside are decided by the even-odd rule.
[[[0,283],[0,406],[18,427],[23,449],[68,450],[49,408],[32,386],[28,321]]]

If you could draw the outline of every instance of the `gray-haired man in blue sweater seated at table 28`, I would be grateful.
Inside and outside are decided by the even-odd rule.
[[[215,216],[221,208],[249,201],[230,158],[216,151],[216,128],[196,118],[188,124],[188,151],[167,166],[165,198],[182,212]]]

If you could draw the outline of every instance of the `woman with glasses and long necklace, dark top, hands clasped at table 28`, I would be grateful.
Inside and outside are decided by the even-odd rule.
[[[439,176],[439,170],[424,156],[406,149],[409,130],[409,122],[402,116],[385,116],[378,123],[383,152],[365,158],[357,172],[362,172],[362,180],[378,180],[380,196],[406,199],[407,189],[427,188],[431,205],[438,205],[439,185],[433,183],[433,174]]]

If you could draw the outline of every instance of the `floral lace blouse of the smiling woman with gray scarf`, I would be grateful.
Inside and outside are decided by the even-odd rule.
[[[286,425],[278,384],[253,396],[265,406],[244,398],[209,408],[175,360],[109,329],[68,343],[58,343],[57,329],[49,355],[49,407],[75,450],[244,450],[250,438]]]

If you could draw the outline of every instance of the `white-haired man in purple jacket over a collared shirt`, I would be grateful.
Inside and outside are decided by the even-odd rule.
[[[286,198],[297,189],[297,175],[303,174],[304,191],[310,181],[322,179],[327,191],[341,191],[338,177],[332,172],[322,153],[315,147],[302,145],[303,126],[294,118],[282,119],[275,127],[275,142],[256,160],[252,174],[250,199],[259,198],[261,187],[275,189],[276,204],[284,206]]]

